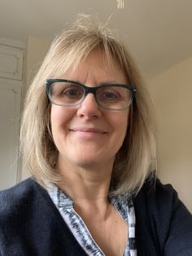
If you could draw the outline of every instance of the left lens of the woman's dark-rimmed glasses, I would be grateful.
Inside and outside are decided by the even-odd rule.
[[[83,87],[72,82],[54,82],[50,85],[50,99],[54,104],[76,105],[80,103],[83,96]]]

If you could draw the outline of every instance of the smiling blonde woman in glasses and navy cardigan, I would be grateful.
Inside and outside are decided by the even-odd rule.
[[[150,99],[91,17],[50,46],[21,126],[33,179],[1,193],[2,255],[192,255],[192,217],[155,179]]]

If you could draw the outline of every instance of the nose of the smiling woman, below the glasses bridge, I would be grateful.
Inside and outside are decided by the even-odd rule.
[[[77,116],[85,117],[86,119],[101,117],[101,114],[102,113],[98,107],[93,93],[86,95],[84,101],[81,103],[77,110]]]

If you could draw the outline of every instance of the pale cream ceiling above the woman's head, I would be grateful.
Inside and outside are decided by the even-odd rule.
[[[191,0],[0,0],[0,38],[26,42],[53,38],[80,12],[98,13],[125,34],[144,77],[153,77],[192,55]]]

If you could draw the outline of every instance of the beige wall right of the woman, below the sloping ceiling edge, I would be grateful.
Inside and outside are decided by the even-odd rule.
[[[192,56],[149,81],[158,125],[158,174],[192,212]]]

